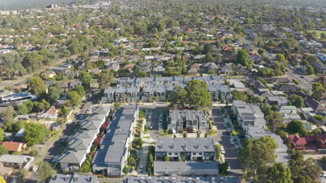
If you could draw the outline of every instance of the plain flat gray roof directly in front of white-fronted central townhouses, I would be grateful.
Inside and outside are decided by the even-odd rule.
[[[154,162],[154,171],[218,170],[218,162]]]

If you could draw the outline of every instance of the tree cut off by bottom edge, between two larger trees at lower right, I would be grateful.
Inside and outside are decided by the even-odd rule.
[[[267,168],[266,174],[259,178],[262,183],[293,183],[290,168],[283,163],[276,163]]]

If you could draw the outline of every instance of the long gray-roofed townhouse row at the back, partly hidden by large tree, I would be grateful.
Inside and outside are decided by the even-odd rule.
[[[231,89],[224,84],[222,76],[199,77],[152,77],[119,78],[116,87],[107,87],[102,96],[103,102],[115,101],[165,101],[174,87],[186,87],[190,80],[202,80],[208,85],[213,101],[232,100]]]

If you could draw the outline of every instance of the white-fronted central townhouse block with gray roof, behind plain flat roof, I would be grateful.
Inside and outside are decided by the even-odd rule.
[[[158,138],[155,145],[155,161],[201,162],[215,160],[215,145],[208,138]]]

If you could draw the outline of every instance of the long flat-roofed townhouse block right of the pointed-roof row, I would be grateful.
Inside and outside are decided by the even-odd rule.
[[[109,176],[123,175],[123,168],[130,155],[133,130],[138,119],[138,106],[127,105],[116,110],[100,142],[100,149],[93,157],[93,173],[107,173]]]

